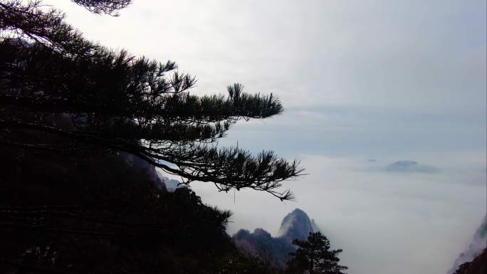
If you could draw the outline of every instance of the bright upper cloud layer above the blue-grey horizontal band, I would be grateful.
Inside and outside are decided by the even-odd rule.
[[[485,1],[53,1],[88,38],[176,60],[205,93],[235,81],[286,105],[442,112],[486,101]]]

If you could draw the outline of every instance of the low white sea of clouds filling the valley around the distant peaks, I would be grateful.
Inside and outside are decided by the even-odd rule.
[[[235,212],[229,233],[260,227],[275,234],[283,216],[298,207],[315,218],[335,248],[344,249],[350,274],[446,273],[486,214],[486,161],[482,153],[414,156],[418,162],[434,159],[441,172],[391,174],[377,166],[394,159],[302,155],[310,175],[286,183],[296,202],[241,191],[234,203],[233,193],[216,193],[209,184],[193,187],[209,204]]]

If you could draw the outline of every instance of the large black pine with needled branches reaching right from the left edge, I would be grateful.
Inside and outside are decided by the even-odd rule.
[[[114,14],[128,0],[73,0]],[[159,63],[86,40],[40,1],[0,0],[0,145],[61,154],[126,152],[220,191],[250,188],[293,199],[281,182],[302,174],[271,151],[217,147],[239,120],[283,112],[273,96],[193,95],[196,80]],[[69,120],[69,122],[60,122]],[[27,135],[28,133],[28,135]]]

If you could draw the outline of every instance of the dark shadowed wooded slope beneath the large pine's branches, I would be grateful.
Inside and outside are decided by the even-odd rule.
[[[165,191],[137,158],[0,155],[0,273],[274,273],[237,251],[229,211]]]

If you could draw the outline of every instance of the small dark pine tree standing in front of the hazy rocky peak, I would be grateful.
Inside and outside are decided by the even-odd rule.
[[[298,250],[290,253],[288,273],[342,274],[346,266],[338,265],[341,249],[330,250],[330,241],[322,233],[310,233],[307,241],[294,240]]]

